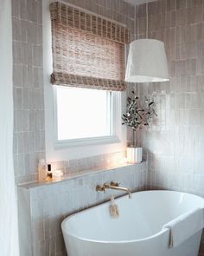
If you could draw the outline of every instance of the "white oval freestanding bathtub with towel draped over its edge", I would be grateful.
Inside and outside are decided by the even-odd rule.
[[[163,225],[183,213],[201,207],[193,194],[145,191],[116,200],[119,216],[110,215],[110,202],[63,220],[62,232],[68,256],[197,256],[201,231],[180,246],[169,248],[169,229]]]

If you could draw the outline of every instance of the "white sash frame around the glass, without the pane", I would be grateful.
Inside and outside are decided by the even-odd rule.
[[[121,102],[121,93],[112,92],[111,100],[111,134],[107,136],[99,137],[90,137],[90,138],[79,138],[79,139],[70,139],[70,140],[58,140],[58,129],[57,129],[57,87],[54,87],[54,148],[69,148],[76,146],[92,145],[92,144],[105,144],[105,143],[117,143],[120,141],[118,135],[118,116],[117,113],[120,113],[120,102]]]

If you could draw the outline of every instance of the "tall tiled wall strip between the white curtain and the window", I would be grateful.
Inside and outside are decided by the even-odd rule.
[[[45,158],[41,16],[41,0],[12,1],[16,183],[35,181]]]

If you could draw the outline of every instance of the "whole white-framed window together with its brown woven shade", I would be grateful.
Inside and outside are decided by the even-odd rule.
[[[76,158],[80,148],[87,149],[80,151],[83,155],[118,150],[124,143],[121,91],[126,88],[124,49],[130,30],[70,3],[50,3],[49,10],[52,53],[45,60],[50,61],[53,87],[45,87],[48,158]]]

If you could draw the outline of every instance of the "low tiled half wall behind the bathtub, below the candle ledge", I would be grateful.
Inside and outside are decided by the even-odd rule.
[[[96,185],[105,181],[144,190],[147,163],[83,174],[47,185],[33,183],[18,187],[21,256],[67,255],[61,221],[71,213],[109,200],[112,191],[96,192]],[[114,191],[114,194],[121,193]]]

